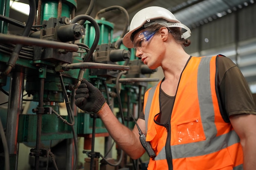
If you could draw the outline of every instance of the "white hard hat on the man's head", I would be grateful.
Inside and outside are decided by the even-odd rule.
[[[162,7],[153,6],[141,9],[134,15],[130,23],[130,30],[128,33],[126,33],[126,35],[124,35],[123,44],[127,48],[133,48],[131,41],[132,33],[141,28],[141,26],[146,28],[147,26],[155,23],[162,24],[167,27],[180,27],[186,29],[186,32],[182,34],[182,38],[184,39],[191,35],[190,29],[177,20],[171,11]]]

